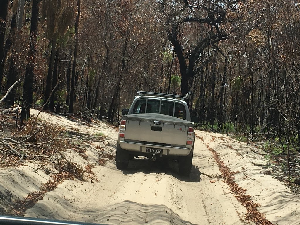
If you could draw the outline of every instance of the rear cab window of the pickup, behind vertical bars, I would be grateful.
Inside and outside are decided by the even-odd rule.
[[[174,107],[174,101],[160,101],[160,99],[148,99],[147,102],[146,99],[138,100],[134,105],[133,113],[160,113],[186,119],[186,111],[182,103],[176,102]]]

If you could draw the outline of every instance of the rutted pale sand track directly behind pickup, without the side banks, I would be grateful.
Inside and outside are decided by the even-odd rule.
[[[105,224],[243,224],[245,209],[229,193],[211,153],[200,140],[194,148],[190,179],[176,163],[136,159],[129,169],[109,161],[93,169],[98,182],[65,181],[26,216]]]

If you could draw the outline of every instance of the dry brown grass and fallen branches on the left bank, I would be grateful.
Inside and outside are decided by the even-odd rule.
[[[0,125],[0,167],[19,166],[27,159],[43,161],[67,148],[63,127],[41,124],[32,128],[33,123],[34,119],[29,119],[16,129],[15,121],[8,119]]]

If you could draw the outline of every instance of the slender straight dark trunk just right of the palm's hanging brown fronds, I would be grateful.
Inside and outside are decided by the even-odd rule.
[[[80,0],[77,0],[77,16],[75,22],[75,48],[74,48],[73,68],[72,68],[69,113],[73,113],[73,104],[74,104],[75,70],[76,70],[76,60],[77,60],[77,51],[78,51],[78,42],[79,42],[78,40],[79,17],[80,17]]]

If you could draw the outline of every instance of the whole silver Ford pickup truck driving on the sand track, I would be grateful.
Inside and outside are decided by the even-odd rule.
[[[173,158],[179,174],[189,176],[194,147],[194,124],[187,96],[137,91],[130,109],[122,110],[116,166],[127,169],[129,160],[145,156],[152,161]]]

